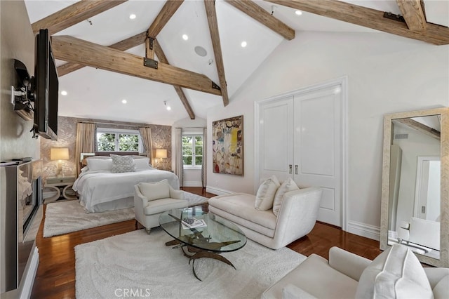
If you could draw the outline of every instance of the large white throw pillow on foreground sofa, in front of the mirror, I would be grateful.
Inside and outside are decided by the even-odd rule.
[[[356,298],[434,298],[415,253],[395,244],[363,270]]]

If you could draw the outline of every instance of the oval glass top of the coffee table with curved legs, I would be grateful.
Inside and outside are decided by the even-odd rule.
[[[203,219],[206,227],[184,229],[180,220],[185,218]],[[159,225],[171,237],[203,251],[236,251],[246,244],[245,234],[234,223],[196,208],[166,211],[159,216]]]

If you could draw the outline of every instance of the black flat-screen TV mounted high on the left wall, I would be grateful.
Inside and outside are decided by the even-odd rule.
[[[36,35],[34,65],[34,133],[58,139],[59,81],[47,29]]]

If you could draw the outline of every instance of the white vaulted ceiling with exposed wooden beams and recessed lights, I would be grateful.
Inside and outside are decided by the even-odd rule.
[[[227,105],[284,39],[301,31],[387,32],[449,44],[444,0],[25,4],[34,31],[52,34],[60,91],[67,91],[60,95],[60,115],[68,117],[166,125],[205,118],[208,108]]]

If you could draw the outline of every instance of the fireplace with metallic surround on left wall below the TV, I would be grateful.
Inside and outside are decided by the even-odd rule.
[[[20,295],[42,219],[42,161],[0,166],[0,295]],[[34,276],[34,273],[33,273]]]

